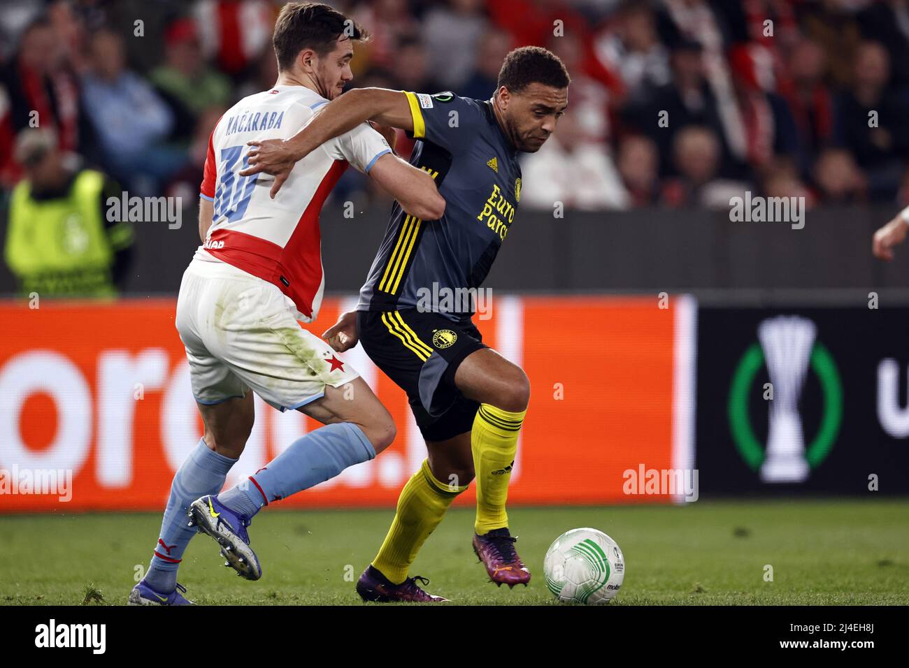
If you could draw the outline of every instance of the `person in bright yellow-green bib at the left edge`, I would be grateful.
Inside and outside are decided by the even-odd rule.
[[[21,294],[110,297],[132,261],[133,225],[108,220],[120,187],[77,155],[61,153],[55,133],[26,129],[15,160],[25,169],[10,200],[4,257]],[[119,212],[118,208],[113,209]]]

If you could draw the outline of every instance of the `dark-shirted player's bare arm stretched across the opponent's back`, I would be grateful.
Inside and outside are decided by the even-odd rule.
[[[274,197],[297,161],[312,153],[317,146],[344,135],[365,121],[403,130],[414,129],[414,117],[404,93],[387,88],[355,88],[323,105],[315,118],[289,139],[248,142],[253,146],[249,151],[249,167],[240,175],[274,174]]]

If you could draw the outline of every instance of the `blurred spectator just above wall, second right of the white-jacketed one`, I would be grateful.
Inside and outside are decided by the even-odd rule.
[[[666,181],[662,201],[668,206],[723,208],[730,197],[742,194],[743,183],[718,178],[722,159],[713,130],[689,125],[674,137],[673,163],[678,176]]]

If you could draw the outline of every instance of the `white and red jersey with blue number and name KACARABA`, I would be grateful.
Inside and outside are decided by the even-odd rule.
[[[279,85],[240,100],[221,117],[208,141],[200,196],[215,204],[195,259],[225,262],[275,284],[290,297],[297,319],[315,320],[325,290],[319,212],[348,164],[368,173],[391,149],[369,124],[319,146],[270,196],[274,179],[240,176],[253,139],[295,135],[328,103],[300,85]]]

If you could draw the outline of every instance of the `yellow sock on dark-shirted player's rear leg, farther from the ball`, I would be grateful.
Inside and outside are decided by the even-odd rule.
[[[454,497],[465,489],[467,485],[440,483],[429,469],[429,460],[423,460],[420,470],[401,490],[395,520],[375,555],[373,566],[393,583],[403,583],[416,553],[442,521]]]

